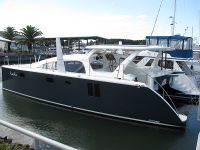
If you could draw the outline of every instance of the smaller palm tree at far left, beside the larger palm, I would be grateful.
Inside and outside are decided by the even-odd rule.
[[[14,37],[18,35],[18,32],[15,30],[14,27],[6,27],[4,31],[0,31],[4,38],[13,41]],[[11,51],[10,48],[11,42],[8,42],[8,52]]]

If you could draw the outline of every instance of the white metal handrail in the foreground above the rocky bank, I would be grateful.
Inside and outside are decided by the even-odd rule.
[[[36,133],[31,132],[31,131],[25,130],[25,129],[21,128],[21,127],[18,127],[16,125],[13,125],[13,124],[8,123],[6,121],[0,120],[0,124],[3,125],[3,126],[6,126],[8,128],[11,128],[11,129],[13,129],[15,131],[18,131],[20,133],[23,133],[23,134],[25,134],[27,136],[30,136],[30,137],[32,137],[34,139],[40,140],[40,141],[42,141],[44,143],[47,143],[47,144],[49,144],[49,145],[51,145],[53,147],[56,147],[58,149],[62,149],[62,150],[77,150],[77,149],[72,148],[70,146],[64,145],[64,144],[59,143],[57,141],[54,141],[54,140],[51,140],[51,139],[46,138],[44,136],[41,136],[39,134],[36,134]]]

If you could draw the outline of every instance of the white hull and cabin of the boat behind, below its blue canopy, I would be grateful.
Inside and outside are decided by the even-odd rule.
[[[138,66],[150,66],[157,55],[158,52],[143,51],[135,58],[134,62]],[[174,101],[197,104],[200,95],[198,90],[200,74],[189,68],[186,59],[171,57],[169,54],[163,54],[162,58],[160,58],[158,65],[173,74],[178,74],[172,78],[174,81],[169,83],[169,91],[165,88],[168,94],[174,97]]]

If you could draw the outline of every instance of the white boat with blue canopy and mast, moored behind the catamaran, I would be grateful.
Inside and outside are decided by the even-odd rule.
[[[180,74],[175,77],[173,84],[168,85],[168,93],[176,101],[184,103],[198,103],[200,92],[200,73],[193,70],[197,69],[198,64],[189,63],[193,57],[193,39],[192,37],[174,35],[175,30],[176,0],[174,0],[174,14],[171,25],[171,36],[146,36],[146,45],[160,45],[174,48],[174,51],[165,52],[160,60],[160,67],[171,70],[174,74]],[[154,59],[156,52],[146,51],[140,54],[138,65],[149,65]],[[199,70],[200,71],[200,70]],[[172,88],[172,89],[171,89]]]

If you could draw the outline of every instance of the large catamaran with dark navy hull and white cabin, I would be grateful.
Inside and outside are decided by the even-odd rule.
[[[163,86],[178,76],[158,66],[163,46],[89,46],[87,54],[62,55],[26,65],[2,66],[3,89],[44,103],[105,117],[184,127]],[[125,54],[116,53],[117,50]],[[143,50],[159,51],[151,66],[133,62]],[[128,53],[131,51],[131,54]],[[162,93],[159,93],[162,90]]]

